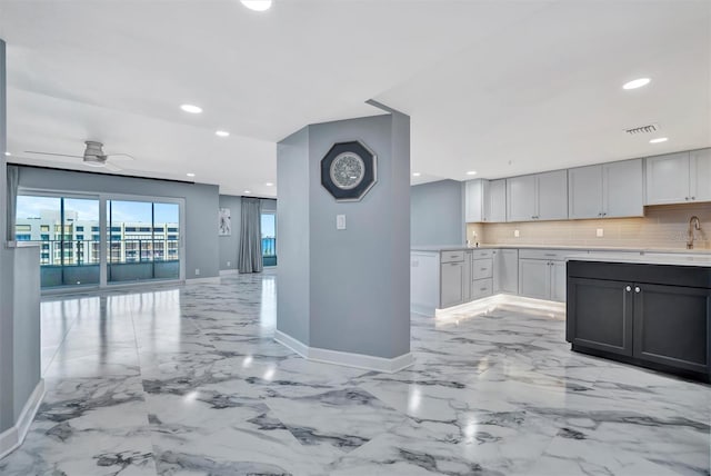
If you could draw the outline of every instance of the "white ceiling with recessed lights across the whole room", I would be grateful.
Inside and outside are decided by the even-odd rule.
[[[0,38],[10,160],[100,140],[223,194],[274,196],[276,142],[368,99],[411,115],[413,182],[711,146],[710,1],[0,0]],[[623,132],[650,122],[670,140]]]

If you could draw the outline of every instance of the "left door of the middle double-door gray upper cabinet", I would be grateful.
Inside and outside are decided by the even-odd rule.
[[[602,214],[602,166],[568,170],[570,218],[600,218]],[[640,196],[641,199],[641,196]]]

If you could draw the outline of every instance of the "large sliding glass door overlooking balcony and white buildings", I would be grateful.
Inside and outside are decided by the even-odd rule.
[[[39,245],[43,289],[182,279],[182,204],[26,191],[16,239]]]

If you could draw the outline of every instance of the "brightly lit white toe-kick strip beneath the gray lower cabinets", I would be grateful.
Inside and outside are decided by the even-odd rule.
[[[553,319],[565,319],[565,303],[504,294],[489,296],[445,309],[435,309],[434,317],[438,319],[462,318],[490,313],[497,308],[540,314]]]

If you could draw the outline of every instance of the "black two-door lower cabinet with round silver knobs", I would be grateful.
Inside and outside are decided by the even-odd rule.
[[[711,271],[671,268],[684,267],[658,266],[649,276],[644,265],[569,262],[565,337],[573,349],[709,381]]]

